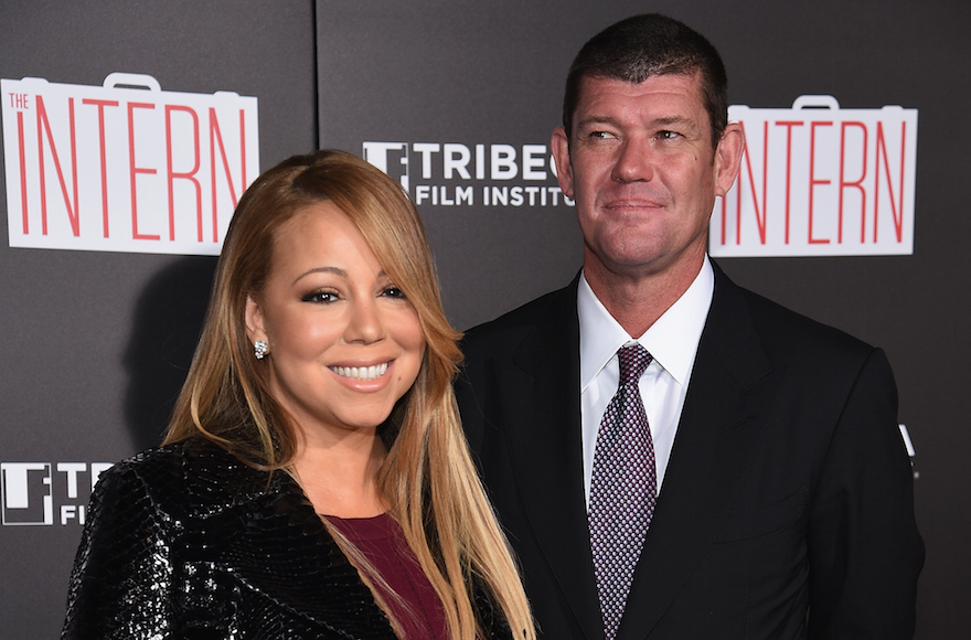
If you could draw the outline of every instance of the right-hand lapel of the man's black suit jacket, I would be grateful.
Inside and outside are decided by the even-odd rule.
[[[701,562],[748,472],[756,437],[746,390],[770,373],[738,288],[715,267],[715,295],[654,519],[618,640],[641,640]]]

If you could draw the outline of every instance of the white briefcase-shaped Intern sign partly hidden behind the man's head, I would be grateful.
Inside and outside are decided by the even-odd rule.
[[[715,203],[715,257],[914,253],[917,109],[843,109],[801,96],[791,109],[728,108],[746,150]]]

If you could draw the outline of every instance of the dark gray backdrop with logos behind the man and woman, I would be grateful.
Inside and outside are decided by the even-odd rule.
[[[886,349],[928,547],[917,637],[971,636],[965,2],[4,0],[0,638],[57,636],[92,480],[158,441],[260,169],[317,146],[377,164],[454,323],[491,319],[579,267],[548,148],[566,68],[644,11],[719,49],[749,140],[711,254]]]

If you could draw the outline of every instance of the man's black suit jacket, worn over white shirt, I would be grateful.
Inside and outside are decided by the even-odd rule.
[[[469,442],[544,638],[602,639],[577,280],[471,330]],[[911,638],[924,543],[884,353],[717,267],[618,640]]]

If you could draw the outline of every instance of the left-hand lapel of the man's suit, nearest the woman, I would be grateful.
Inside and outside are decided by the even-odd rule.
[[[555,295],[501,372],[509,450],[545,559],[587,638],[602,638],[583,487],[577,279]],[[538,470],[538,471],[537,471]]]

